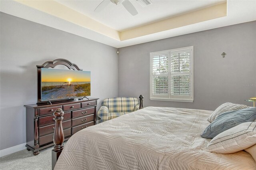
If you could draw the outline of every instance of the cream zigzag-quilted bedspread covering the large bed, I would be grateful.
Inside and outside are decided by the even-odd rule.
[[[146,107],[80,130],[64,146],[55,170],[255,170],[245,151],[201,148],[212,111]]]

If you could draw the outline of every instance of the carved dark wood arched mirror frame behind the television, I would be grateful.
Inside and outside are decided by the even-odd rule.
[[[45,63],[43,63],[42,65],[36,65],[37,67],[37,83],[38,83],[38,103],[47,103],[47,101],[43,101],[41,100],[42,98],[42,94],[41,94],[41,69],[42,68],[54,68],[57,65],[65,65],[66,67],[68,67],[68,69],[72,69],[72,70],[78,70],[78,71],[83,71],[83,69],[80,69],[76,64],[71,63],[70,61],[68,61],[67,59],[55,59],[53,61],[46,61]],[[37,104],[38,104],[37,103]]]

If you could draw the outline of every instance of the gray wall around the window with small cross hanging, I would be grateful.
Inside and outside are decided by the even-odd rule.
[[[150,52],[194,45],[194,102],[150,101]],[[256,96],[256,21],[118,49],[118,96],[144,106],[215,110]],[[221,53],[227,53],[223,58]]]

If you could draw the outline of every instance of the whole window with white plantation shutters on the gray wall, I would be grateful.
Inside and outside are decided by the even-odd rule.
[[[193,102],[193,46],[150,53],[150,100]]]

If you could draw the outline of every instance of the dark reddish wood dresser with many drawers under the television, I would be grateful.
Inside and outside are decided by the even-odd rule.
[[[40,150],[53,146],[55,121],[53,113],[61,108],[64,111],[62,127],[64,140],[82,130],[96,125],[96,98],[54,102],[52,105],[33,104],[26,107],[26,147],[38,155]]]

